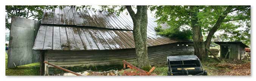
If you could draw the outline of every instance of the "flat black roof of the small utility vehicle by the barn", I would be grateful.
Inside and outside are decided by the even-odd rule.
[[[196,55],[177,55],[177,56],[168,56],[170,61],[182,61],[182,60],[198,60]]]

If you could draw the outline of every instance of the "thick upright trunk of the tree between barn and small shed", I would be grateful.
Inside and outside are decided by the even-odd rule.
[[[206,55],[206,50],[205,50],[205,44],[203,41],[203,36],[202,36],[202,29],[199,25],[197,13],[199,12],[199,9],[197,6],[189,6],[189,15],[191,17],[191,28],[192,28],[192,33],[193,33],[193,42],[194,42],[194,50],[195,50],[195,55],[199,59],[204,59],[207,58],[208,55]]]

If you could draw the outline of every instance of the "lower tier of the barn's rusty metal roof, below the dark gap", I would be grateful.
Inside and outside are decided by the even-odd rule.
[[[180,42],[147,31],[147,45]],[[135,48],[132,31],[78,26],[41,25],[34,43],[36,50],[107,50]]]

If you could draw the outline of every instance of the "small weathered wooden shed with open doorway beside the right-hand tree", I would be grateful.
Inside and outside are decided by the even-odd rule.
[[[245,56],[245,48],[248,48],[242,42],[214,42],[220,45],[220,57],[242,60]]]

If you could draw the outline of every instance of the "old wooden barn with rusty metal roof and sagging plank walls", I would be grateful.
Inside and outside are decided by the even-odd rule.
[[[192,55],[192,42],[157,35],[155,18],[148,18],[147,45],[151,65],[166,63],[169,55]],[[169,28],[167,24],[160,24]],[[136,62],[133,23],[129,15],[93,9],[74,11],[70,7],[48,10],[34,42],[40,50],[42,71],[54,73],[48,61],[61,67],[121,65]],[[44,69],[43,69],[44,68]],[[49,69],[48,69],[49,68]]]

